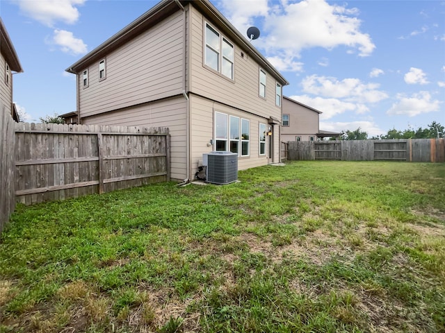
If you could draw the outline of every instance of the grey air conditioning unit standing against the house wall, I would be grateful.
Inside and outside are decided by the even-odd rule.
[[[212,151],[202,155],[207,182],[229,184],[238,179],[238,154],[229,151]]]

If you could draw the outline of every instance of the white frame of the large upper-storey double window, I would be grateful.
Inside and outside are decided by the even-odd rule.
[[[207,40],[207,28],[213,31],[216,35],[218,35],[218,46],[212,46],[208,43]],[[231,52],[226,52],[227,46],[229,49],[232,49]],[[218,47],[218,48],[216,48]],[[216,53],[218,64],[216,68],[211,66],[209,62],[207,62],[207,53],[208,52]],[[235,46],[230,40],[224,37],[216,28],[213,28],[211,24],[208,22],[204,22],[204,65],[213,69],[214,71],[218,71],[219,74],[224,76],[225,78],[229,78],[229,80],[234,80],[235,76]],[[225,72],[225,65],[229,64],[231,67],[230,74]]]

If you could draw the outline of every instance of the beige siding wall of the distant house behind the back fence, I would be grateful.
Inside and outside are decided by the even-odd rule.
[[[295,141],[296,136],[301,141],[309,141],[318,133],[318,112],[304,105],[283,99],[283,114],[289,114],[289,126],[282,126],[282,142]]]

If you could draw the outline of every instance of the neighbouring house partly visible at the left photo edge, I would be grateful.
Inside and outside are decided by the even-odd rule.
[[[23,69],[1,18],[0,51],[0,102],[1,105],[5,105],[8,108],[13,119],[18,122],[19,114],[13,103],[13,71],[22,73]]]

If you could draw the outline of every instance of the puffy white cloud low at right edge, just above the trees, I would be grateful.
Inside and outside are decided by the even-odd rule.
[[[429,92],[419,92],[412,96],[397,94],[396,98],[398,101],[387,110],[387,114],[414,117],[419,114],[437,112],[442,103],[437,99],[433,100]]]

